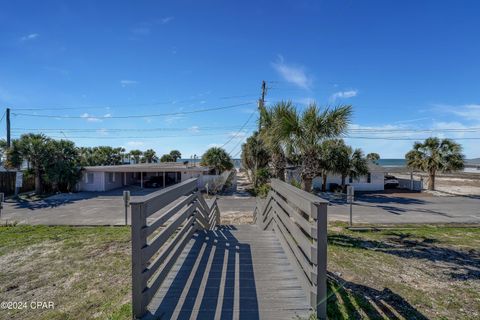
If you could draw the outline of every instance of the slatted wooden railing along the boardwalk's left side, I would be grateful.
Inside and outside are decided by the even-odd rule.
[[[197,179],[190,179],[130,203],[134,318],[146,313],[194,232],[220,223],[216,199],[209,202],[198,191]]]

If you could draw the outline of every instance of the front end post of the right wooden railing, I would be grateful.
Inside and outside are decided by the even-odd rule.
[[[315,288],[315,305],[318,319],[327,319],[327,205],[328,203],[312,203],[312,217],[316,216],[317,224],[317,285]],[[314,219],[315,220],[315,219]]]

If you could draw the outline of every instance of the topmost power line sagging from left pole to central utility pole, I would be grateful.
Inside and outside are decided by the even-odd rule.
[[[38,117],[38,118],[59,118],[59,119],[127,119],[127,118],[152,118],[152,117],[164,117],[164,116],[177,116],[177,115],[185,115],[185,114],[193,114],[193,113],[202,113],[202,112],[210,112],[210,111],[219,111],[219,110],[226,110],[237,108],[241,106],[246,106],[249,104],[253,104],[253,102],[244,102],[239,104],[233,104],[229,106],[223,107],[214,107],[214,108],[205,108],[205,109],[198,109],[198,110],[191,110],[191,111],[178,111],[178,112],[170,112],[170,113],[157,113],[157,114],[143,114],[143,115],[126,115],[126,116],[94,116],[94,115],[84,115],[84,116],[59,116],[53,114],[31,114],[31,113],[17,113],[12,112],[15,116],[23,116],[23,117]]]

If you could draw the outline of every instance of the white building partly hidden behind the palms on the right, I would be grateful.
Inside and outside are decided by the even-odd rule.
[[[347,177],[345,183],[355,188],[355,191],[381,191],[385,190],[385,168],[375,163],[369,162],[368,174],[361,176],[358,179]],[[298,168],[290,168],[286,170],[286,180],[295,179],[300,181],[300,171]],[[338,174],[330,174],[327,176],[327,190],[330,190],[330,184],[342,184],[342,177]],[[314,189],[322,188],[322,177],[316,177],[312,181]]]

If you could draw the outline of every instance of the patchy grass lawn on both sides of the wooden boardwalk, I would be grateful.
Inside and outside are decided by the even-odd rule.
[[[480,228],[329,231],[330,319],[478,319]],[[0,319],[130,319],[130,229],[0,227]]]

